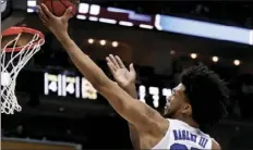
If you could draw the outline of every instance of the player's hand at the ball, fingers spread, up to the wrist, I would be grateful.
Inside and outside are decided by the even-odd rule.
[[[68,32],[68,21],[73,16],[72,8],[68,8],[60,17],[53,15],[44,3],[38,5],[37,9],[41,22],[52,34],[58,37]]]

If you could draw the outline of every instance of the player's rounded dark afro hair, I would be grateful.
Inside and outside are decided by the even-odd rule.
[[[224,80],[201,64],[180,75],[185,95],[192,105],[192,117],[200,126],[210,126],[227,114],[229,89]]]

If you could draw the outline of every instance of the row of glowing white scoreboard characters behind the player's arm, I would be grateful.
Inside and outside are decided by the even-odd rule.
[[[147,90],[148,89],[148,90]],[[137,93],[140,100],[145,101],[146,95],[150,95],[153,99],[153,104],[155,108],[159,107],[160,95],[164,97],[171,96],[171,89],[169,88],[159,88],[159,87],[146,87],[144,85],[140,85],[137,87]],[[53,75],[49,73],[45,73],[44,75],[44,93],[48,95],[57,95],[59,97],[72,96],[75,98],[83,99],[97,99],[97,90],[93,87],[93,85],[86,78],[80,78],[79,76],[67,76],[67,75]]]

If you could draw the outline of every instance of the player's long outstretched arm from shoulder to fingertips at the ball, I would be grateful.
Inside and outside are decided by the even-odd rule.
[[[69,53],[81,73],[93,84],[112,105],[112,108],[128,122],[134,124],[138,130],[160,134],[161,127],[168,127],[168,122],[156,111],[141,101],[134,100],[89,59],[68,35],[68,20],[72,16],[68,9],[61,17],[55,16],[46,5],[39,8],[39,15],[44,24],[55,34]]]

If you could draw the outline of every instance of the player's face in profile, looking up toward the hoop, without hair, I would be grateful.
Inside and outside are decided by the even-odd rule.
[[[182,84],[179,84],[172,90],[172,95],[167,99],[165,107],[165,116],[170,118],[176,118],[180,115],[180,112],[183,109],[183,104],[185,103],[185,87]]]

